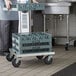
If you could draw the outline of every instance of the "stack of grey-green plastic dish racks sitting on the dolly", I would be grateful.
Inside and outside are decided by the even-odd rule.
[[[52,51],[52,35],[48,33],[12,34],[12,49],[16,54]]]

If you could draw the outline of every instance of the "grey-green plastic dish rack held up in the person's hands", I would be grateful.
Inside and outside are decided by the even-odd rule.
[[[44,3],[18,3],[17,8],[19,11],[29,11],[29,10],[44,10]]]

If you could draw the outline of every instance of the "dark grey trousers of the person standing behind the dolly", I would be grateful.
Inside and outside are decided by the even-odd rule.
[[[18,20],[0,20],[0,51],[9,51],[12,47],[12,33],[18,32]]]

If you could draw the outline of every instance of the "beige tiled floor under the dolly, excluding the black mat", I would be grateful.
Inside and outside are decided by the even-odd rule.
[[[14,68],[5,56],[0,56],[0,76],[51,76],[53,73],[76,62],[76,48],[65,51],[64,47],[55,47],[56,52],[51,65],[44,64],[36,57],[26,57],[19,68]]]

